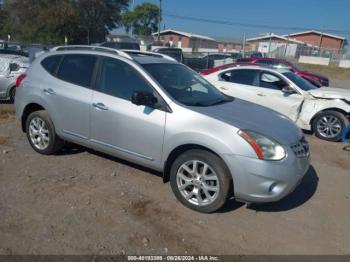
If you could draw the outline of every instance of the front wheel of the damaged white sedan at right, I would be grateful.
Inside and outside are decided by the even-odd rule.
[[[342,113],[328,110],[317,115],[312,123],[312,129],[318,138],[338,142],[348,124],[349,120]]]

